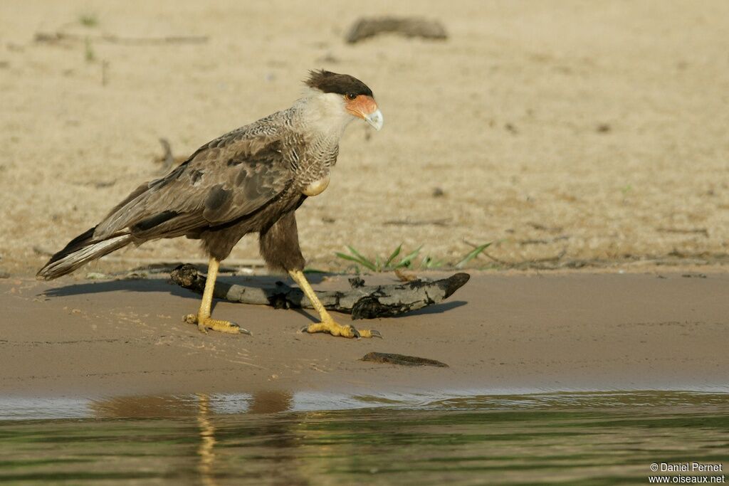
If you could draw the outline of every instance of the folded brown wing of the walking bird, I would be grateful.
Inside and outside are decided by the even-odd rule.
[[[167,176],[142,184],[98,224],[95,238],[122,230],[172,238],[262,208],[293,179],[296,155],[284,146],[281,113],[211,141]]]

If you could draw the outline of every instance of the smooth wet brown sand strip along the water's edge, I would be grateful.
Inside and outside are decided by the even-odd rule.
[[[229,302],[214,315],[254,335],[200,334],[181,320],[198,296],[163,278],[6,279],[0,394],[729,391],[729,275],[687,275],[473,273],[441,305],[356,321],[383,340],[299,334],[311,312]],[[343,275],[315,285],[347,286]],[[449,367],[359,361],[370,351]]]

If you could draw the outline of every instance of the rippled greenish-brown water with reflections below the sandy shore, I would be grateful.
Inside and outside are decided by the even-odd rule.
[[[132,397],[92,401],[90,418],[5,420],[0,482],[613,485],[647,484],[654,462],[729,464],[725,394],[351,400],[363,407],[297,410],[286,392]]]

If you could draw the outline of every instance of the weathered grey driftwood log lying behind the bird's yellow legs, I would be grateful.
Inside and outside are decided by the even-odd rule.
[[[190,264],[172,270],[171,281],[185,289],[203,293],[206,277]],[[421,309],[451,297],[470,278],[467,273],[456,273],[437,281],[410,281],[391,285],[365,286],[362,279],[351,279],[347,291],[317,291],[324,307],[343,313],[351,313],[354,319],[389,317]],[[217,282],[215,297],[244,304],[272,305],[276,308],[307,307],[311,302],[303,291],[276,282],[274,288],[260,289]]]

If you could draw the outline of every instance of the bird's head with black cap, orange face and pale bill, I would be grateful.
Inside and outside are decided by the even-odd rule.
[[[382,113],[372,90],[359,79],[322,69],[309,71],[305,84],[311,88],[311,100],[325,112],[323,115],[341,118],[345,125],[351,121],[350,117],[362,118],[375,130],[382,128]]]

